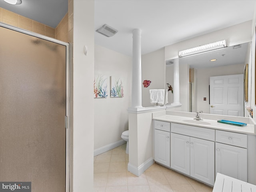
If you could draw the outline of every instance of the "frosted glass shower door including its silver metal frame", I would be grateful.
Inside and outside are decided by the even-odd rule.
[[[0,23],[0,182],[69,191],[69,44]]]

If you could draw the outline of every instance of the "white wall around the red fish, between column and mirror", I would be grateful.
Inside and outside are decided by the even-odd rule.
[[[165,85],[165,62],[164,48],[144,54],[141,57],[142,82],[150,80],[150,86],[144,88],[142,84],[142,106],[149,107],[155,104],[150,103],[150,89],[166,89]]]

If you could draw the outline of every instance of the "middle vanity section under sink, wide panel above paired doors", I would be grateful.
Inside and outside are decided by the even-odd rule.
[[[213,129],[171,123],[171,168],[214,185],[214,140]]]

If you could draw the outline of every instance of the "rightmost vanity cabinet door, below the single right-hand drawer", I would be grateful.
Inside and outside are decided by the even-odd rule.
[[[247,182],[247,149],[217,142],[215,148],[215,174]]]

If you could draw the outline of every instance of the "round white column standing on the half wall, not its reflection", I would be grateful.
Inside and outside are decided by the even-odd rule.
[[[132,31],[132,107],[142,107],[141,30]]]

